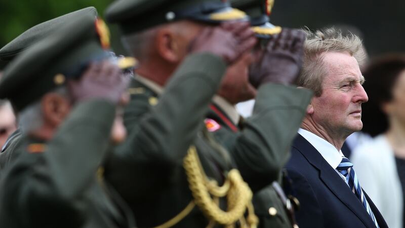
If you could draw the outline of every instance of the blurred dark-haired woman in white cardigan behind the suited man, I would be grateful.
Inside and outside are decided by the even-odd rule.
[[[363,73],[369,102],[363,131],[374,138],[353,151],[361,186],[391,228],[402,228],[405,199],[405,55],[388,54]]]

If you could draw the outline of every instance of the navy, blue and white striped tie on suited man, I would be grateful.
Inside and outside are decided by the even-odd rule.
[[[356,197],[360,200],[361,204],[366,208],[374,224],[376,224],[376,226],[379,227],[377,219],[374,216],[374,213],[366,200],[366,196],[363,194],[363,191],[360,187],[360,183],[357,180],[357,175],[354,172],[353,164],[349,161],[349,159],[343,157],[342,162],[340,162],[338,168],[336,169],[345,177],[347,185],[349,185],[354,195],[356,195]]]

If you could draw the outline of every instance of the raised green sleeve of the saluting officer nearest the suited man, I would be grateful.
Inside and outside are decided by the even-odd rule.
[[[311,97],[307,89],[275,84],[260,87],[253,116],[247,119],[231,150],[254,192],[278,179]]]

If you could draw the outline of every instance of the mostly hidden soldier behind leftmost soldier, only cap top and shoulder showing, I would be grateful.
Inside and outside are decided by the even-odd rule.
[[[45,39],[50,36],[55,30],[63,25],[70,23],[77,17],[89,15],[94,19],[97,17],[97,10],[94,7],[87,7],[80,9],[60,17],[45,21],[41,24],[37,24],[25,32],[21,33],[10,43],[5,45],[0,49],[0,59],[3,61],[11,61],[16,56],[18,56],[23,51],[27,50],[33,44]],[[22,150],[17,149],[21,146],[22,142],[22,132],[21,129],[17,129],[13,134],[11,134],[4,144],[2,151],[0,153],[0,171],[6,169],[16,160],[20,155],[19,152]]]

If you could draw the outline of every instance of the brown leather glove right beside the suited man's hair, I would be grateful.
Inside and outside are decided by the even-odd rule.
[[[283,28],[270,38],[250,66],[249,81],[258,88],[264,83],[294,84],[302,67],[305,34],[297,29]]]

